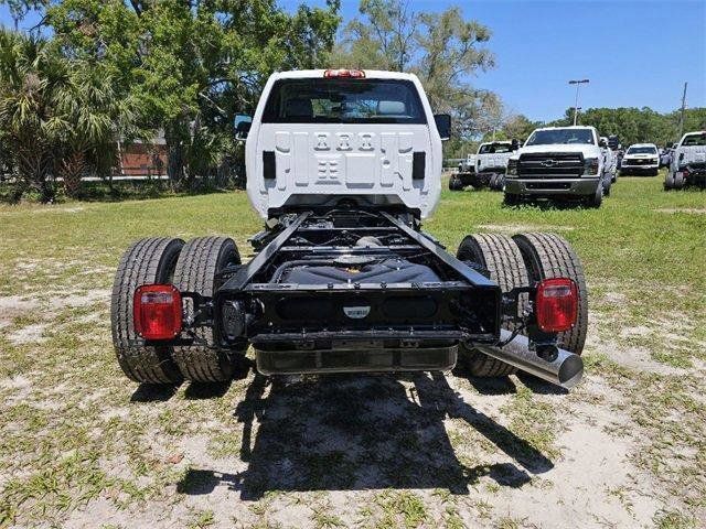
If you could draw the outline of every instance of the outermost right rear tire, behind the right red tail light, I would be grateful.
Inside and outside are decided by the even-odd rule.
[[[588,330],[588,291],[584,266],[571,245],[555,234],[520,234],[513,236],[530,272],[530,279],[569,278],[578,290],[578,316],[569,331],[557,335],[559,347],[580,355]]]

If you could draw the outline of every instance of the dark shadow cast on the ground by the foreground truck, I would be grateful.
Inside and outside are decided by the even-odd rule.
[[[446,488],[469,494],[469,485],[483,476],[521,487],[532,474],[554,466],[461,400],[441,374],[410,375],[410,387],[403,380],[355,375],[287,384],[256,375],[235,411],[243,423],[239,456],[247,469],[192,468],[178,490],[201,495],[225,485],[246,500],[268,490]],[[472,427],[513,462],[464,465],[449,440],[447,418]]]

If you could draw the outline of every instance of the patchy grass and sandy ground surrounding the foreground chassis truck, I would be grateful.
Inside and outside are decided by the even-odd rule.
[[[138,387],[109,295],[153,235],[233,236],[245,193],[0,206],[0,527],[706,525],[706,192],[624,177],[600,209],[445,190],[426,229],[556,231],[590,330],[570,393],[463,373]]]

